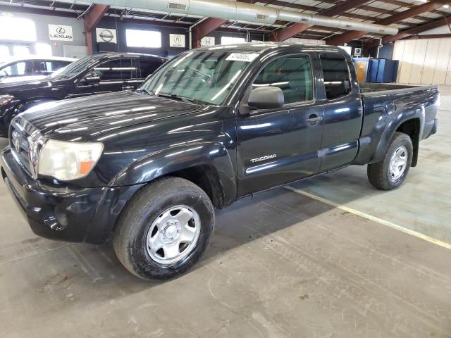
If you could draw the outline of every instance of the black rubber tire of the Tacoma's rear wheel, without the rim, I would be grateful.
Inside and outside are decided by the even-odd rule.
[[[395,154],[395,151],[401,146],[404,146],[407,149],[407,164],[404,173],[402,173],[400,177],[393,179],[393,177],[390,176],[390,161],[393,154]],[[412,139],[410,139],[409,135],[402,132],[395,132],[383,160],[368,165],[367,174],[369,182],[373,184],[374,187],[381,190],[392,190],[400,187],[409,173],[413,154],[414,146],[412,145]]]

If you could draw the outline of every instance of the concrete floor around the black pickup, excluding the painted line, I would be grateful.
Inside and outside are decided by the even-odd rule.
[[[441,111],[395,192],[364,167],[294,186],[451,243],[450,131]],[[36,237],[3,182],[0,215],[0,337],[451,337],[449,249],[288,189],[219,212],[204,259],[166,283],[111,245]]]

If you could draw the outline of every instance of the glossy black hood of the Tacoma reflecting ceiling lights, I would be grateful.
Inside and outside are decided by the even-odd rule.
[[[81,141],[202,108],[204,106],[127,91],[40,104],[20,116],[37,127],[44,137]]]

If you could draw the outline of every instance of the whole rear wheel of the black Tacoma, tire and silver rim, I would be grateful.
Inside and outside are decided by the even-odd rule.
[[[409,173],[414,154],[412,139],[395,132],[382,161],[368,165],[368,179],[374,187],[392,190],[400,187]]]

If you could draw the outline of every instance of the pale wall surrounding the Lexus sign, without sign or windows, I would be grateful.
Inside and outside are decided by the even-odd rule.
[[[20,13],[15,11],[0,12],[0,15],[13,15],[14,18],[27,18],[33,20],[36,26],[37,42],[50,44],[52,48],[53,56],[65,56],[64,46],[86,46],[85,42],[85,28],[83,26],[83,21],[77,18],[65,18],[58,17],[54,15],[40,15],[32,13]],[[73,42],[54,42],[49,38],[49,24],[50,25],[67,25],[72,26],[73,31]],[[12,43],[11,41],[2,41],[2,43]],[[21,43],[22,44],[22,43]],[[35,42],[27,42],[30,46],[35,44]]]

